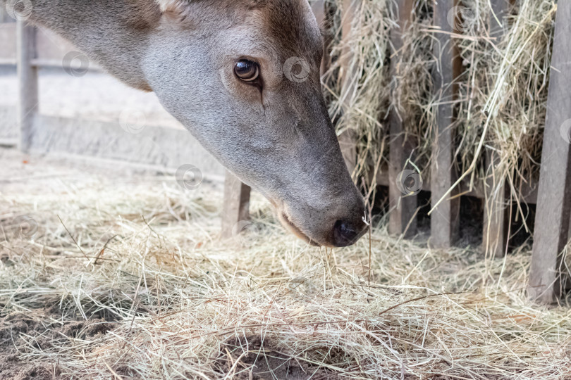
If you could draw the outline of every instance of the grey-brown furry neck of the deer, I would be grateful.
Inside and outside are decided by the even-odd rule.
[[[32,0],[30,21],[68,39],[125,84],[152,91],[141,65],[160,17],[152,0]]]

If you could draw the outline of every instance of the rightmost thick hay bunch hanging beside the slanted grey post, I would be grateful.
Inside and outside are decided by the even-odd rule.
[[[494,15],[487,1],[466,6],[467,37],[458,39],[465,67],[458,112],[460,170],[468,169],[474,146],[484,138],[499,160],[493,172],[475,174],[507,181],[517,200],[522,182],[539,178],[557,7],[554,1],[517,1],[503,20],[503,34],[490,32]]]

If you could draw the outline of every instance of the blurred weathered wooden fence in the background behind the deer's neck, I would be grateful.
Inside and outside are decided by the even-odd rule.
[[[4,120],[0,145],[19,146],[25,152],[121,160],[165,172],[175,172],[180,165],[191,164],[210,179],[223,180],[223,167],[183,127],[147,123],[137,133],[129,133],[120,127],[120,122],[40,114],[39,69],[61,69],[66,53],[77,51],[56,34],[20,21],[0,23],[0,46],[0,65],[17,63],[18,70],[16,115],[13,109],[0,107]],[[68,69],[82,70],[80,61],[66,64]],[[101,71],[92,63],[89,70]],[[10,120],[17,120],[16,127]]]

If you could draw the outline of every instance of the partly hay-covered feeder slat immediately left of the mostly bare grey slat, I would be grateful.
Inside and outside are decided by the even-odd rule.
[[[395,51],[391,55],[391,77],[393,83],[398,86],[398,63],[403,49],[403,32],[410,23],[414,0],[398,0],[395,4],[398,12],[398,28],[391,30],[391,43]],[[405,237],[413,236],[417,229],[415,217],[417,208],[416,194],[403,194],[403,186],[397,186],[403,181],[399,175],[407,168],[407,159],[412,155],[414,144],[410,138],[405,138],[404,123],[406,115],[400,115],[397,109],[391,110],[388,115],[388,123],[391,129],[389,141],[389,164],[388,164],[388,199],[389,219],[388,232],[393,235],[405,234]],[[412,169],[412,167],[409,167]]]

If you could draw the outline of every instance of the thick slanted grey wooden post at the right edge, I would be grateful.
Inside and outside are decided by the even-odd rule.
[[[571,1],[558,3],[544,146],[535,217],[529,296],[553,303],[561,291],[560,253],[571,217]]]

